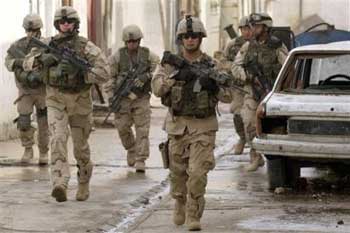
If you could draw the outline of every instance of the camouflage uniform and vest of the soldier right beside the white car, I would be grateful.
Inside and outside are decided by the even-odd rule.
[[[271,18],[269,18],[268,22],[270,21],[271,25],[269,24],[268,27],[272,26]],[[232,65],[233,76],[241,82],[246,83],[244,88],[250,93],[244,95],[241,110],[246,141],[249,144],[251,144],[256,136],[256,109],[259,102],[253,98],[254,83],[251,81],[251,76],[246,74],[243,66],[252,61],[257,62],[262,67],[264,76],[273,84],[287,55],[288,50],[286,46],[275,37],[270,37],[264,42],[251,40],[242,46]],[[247,167],[247,171],[255,171],[259,166],[264,164],[263,158],[254,149],[250,150],[250,156],[251,164]]]

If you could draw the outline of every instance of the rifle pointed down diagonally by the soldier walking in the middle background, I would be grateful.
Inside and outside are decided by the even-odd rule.
[[[109,105],[110,109],[103,121],[104,124],[107,122],[112,112],[118,112],[120,110],[122,99],[124,97],[127,97],[130,93],[133,92],[134,81],[136,77],[140,74],[148,72],[149,68],[150,67],[147,65],[139,64],[134,69],[130,69],[128,72],[125,72],[122,75],[120,75],[119,78],[121,78],[121,82],[116,88],[116,91],[114,92],[114,95],[110,101],[110,105]]]

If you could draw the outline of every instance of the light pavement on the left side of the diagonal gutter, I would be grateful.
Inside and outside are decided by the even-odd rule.
[[[72,143],[68,143],[71,180],[68,201],[57,203],[51,196],[49,167],[39,167],[38,150],[27,166],[19,163],[23,148],[19,139],[0,142],[0,232],[108,232],[125,231],[148,206],[166,197],[168,170],[162,168],[158,144],[166,138],[161,129],[166,109],[154,106],[150,132],[151,156],[147,171],[138,174],[126,166],[126,152],[114,128],[96,127],[90,137],[91,157],[95,164],[90,198],[75,201],[76,166]],[[231,115],[224,108],[217,146],[232,135]],[[232,145],[230,145],[232,146]]]

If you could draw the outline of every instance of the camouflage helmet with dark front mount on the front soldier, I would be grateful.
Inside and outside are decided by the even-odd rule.
[[[207,36],[207,32],[200,19],[187,15],[186,18],[182,19],[177,25],[176,37],[179,39],[182,34],[188,32],[201,33],[202,37]]]

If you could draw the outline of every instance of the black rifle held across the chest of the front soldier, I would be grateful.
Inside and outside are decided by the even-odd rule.
[[[199,83],[199,78],[208,77],[216,81],[219,85],[233,87],[239,90],[240,92],[248,94],[248,92],[245,91],[243,88],[234,85],[232,83],[232,78],[228,74],[219,73],[217,70],[215,70],[214,63],[210,63],[209,67],[208,65],[203,66],[200,64],[191,64],[184,58],[172,54],[169,51],[165,51],[163,54],[161,64],[169,64],[171,66],[174,66],[176,69],[189,69],[191,73],[196,74],[196,77],[194,78],[197,78],[197,80],[194,84],[193,92],[200,92],[202,89],[202,86]]]

